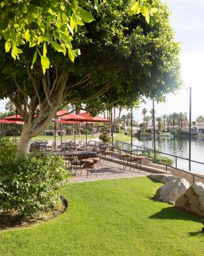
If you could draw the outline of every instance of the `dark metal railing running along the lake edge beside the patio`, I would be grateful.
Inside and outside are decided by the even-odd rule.
[[[204,182],[204,177],[203,176],[200,176],[196,173],[192,173],[192,172],[189,172],[187,170],[184,170],[184,169],[180,169],[178,168],[177,166],[177,159],[182,159],[182,160],[186,160],[186,161],[191,161],[192,163],[197,163],[197,164],[202,164],[203,165],[203,170],[204,170],[204,163],[200,162],[200,161],[194,161],[194,160],[189,160],[188,158],[185,158],[185,157],[180,157],[180,156],[175,156],[173,154],[168,154],[168,153],[164,153],[164,152],[161,152],[161,151],[157,151],[157,150],[153,150],[153,149],[150,149],[150,148],[147,148],[145,146],[137,146],[137,145],[133,145],[131,143],[126,143],[126,142],[123,142],[123,141],[115,141],[115,145],[117,148],[119,148],[119,150],[122,150],[124,149],[124,147],[126,147],[127,145],[131,146],[131,148],[138,148],[138,150],[140,151],[145,151],[147,153],[147,155],[145,156],[145,158],[147,159],[150,159],[152,160],[152,163],[157,163],[157,164],[161,164],[163,166],[165,166],[166,168],[166,172],[168,172],[168,168],[173,168],[175,170],[178,170],[180,172],[184,172],[184,173],[187,173],[189,175],[192,175],[192,178],[193,178],[193,182],[195,180],[195,178],[197,177],[198,179],[202,179],[203,182]],[[160,161],[158,161],[158,159],[154,160],[153,157],[150,157],[150,153],[156,153],[156,154],[163,154],[165,156],[170,156],[170,157],[174,157],[175,158],[175,166],[171,166],[169,164],[164,164],[164,163],[161,163]],[[134,154],[134,153],[133,153]],[[203,174],[204,175],[204,174]]]

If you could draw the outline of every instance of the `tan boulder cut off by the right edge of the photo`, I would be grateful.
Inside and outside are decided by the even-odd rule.
[[[175,206],[187,212],[204,216],[204,184],[195,182],[184,195],[180,195]]]

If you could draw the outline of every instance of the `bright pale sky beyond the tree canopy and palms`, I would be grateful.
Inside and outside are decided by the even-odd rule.
[[[162,0],[170,7],[171,26],[175,31],[175,40],[180,42],[182,79],[184,86],[192,88],[192,116],[204,115],[204,0]],[[3,111],[5,100],[0,101]],[[142,122],[142,109],[152,109],[152,101],[133,109],[133,116]],[[181,90],[177,95],[168,95],[165,103],[155,104],[156,116],[173,112],[189,112],[189,90]],[[126,114],[127,111],[123,111]],[[150,113],[149,113],[150,114]]]

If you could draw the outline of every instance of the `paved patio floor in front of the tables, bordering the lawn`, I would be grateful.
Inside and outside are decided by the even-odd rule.
[[[76,177],[73,177],[71,182],[85,182],[85,181],[94,181],[94,180],[103,180],[103,179],[119,179],[119,178],[130,178],[130,177],[141,177],[149,175],[149,172],[145,172],[143,170],[138,172],[138,169],[131,168],[129,170],[129,166],[125,169],[122,168],[122,165],[110,161],[101,160],[101,164],[103,166],[103,170],[101,166],[96,168],[97,172],[93,170],[92,174],[89,173],[87,177],[87,171],[85,168],[82,168],[82,175],[80,175],[80,168],[77,169]],[[103,173],[104,171],[104,173]],[[97,175],[97,176],[96,176]]]

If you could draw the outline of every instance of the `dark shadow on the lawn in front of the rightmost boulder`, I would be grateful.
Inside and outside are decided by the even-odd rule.
[[[181,211],[175,207],[163,208],[161,211],[149,216],[149,218],[157,220],[186,220],[199,223],[202,221],[201,217]]]

